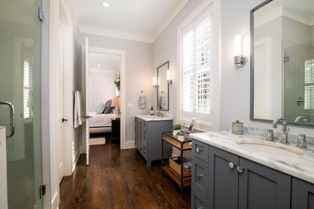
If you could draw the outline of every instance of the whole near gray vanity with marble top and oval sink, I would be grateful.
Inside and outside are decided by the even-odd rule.
[[[191,208],[314,208],[311,148],[299,149],[293,143],[283,145],[278,140],[268,142],[264,136],[231,131],[193,133],[190,137]],[[264,145],[268,148],[260,149]],[[269,151],[272,146],[274,151]]]

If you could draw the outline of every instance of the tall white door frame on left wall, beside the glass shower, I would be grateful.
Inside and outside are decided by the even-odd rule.
[[[57,81],[57,48],[54,47],[58,43],[58,21],[59,15],[65,20],[65,79],[68,81],[65,87],[65,97],[69,99],[69,101],[65,102],[65,113],[64,116],[68,119],[67,125],[65,125],[65,137],[68,140],[65,140],[64,144],[65,148],[65,175],[72,174],[72,159],[71,155],[71,146],[73,139],[73,95],[72,95],[72,86],[73,86],[73,26],[70,21],[69,12],[66,10],[66,6],[64,0],[54,0],[49,2],[50,7],[50,17],[49,17],[49,100],[47,100],[47,106],[49,108],[49,138],[50,138],[50,183],[51,183],[51,208],[57,208],[60,201],[60,188],[58,183],[58,160],[57,160],[57,109],[56,109],[56,101],[57,101],[57,92],[56,92],[56,81]],[[70,127],[69,127],[70,126]],[[71,128],[72,127],[72,128]],[[45,128],[43,128],[45,129]],[[45,169],[45,166],[43,167]],[[44,178],[45,179],[45,178]]]

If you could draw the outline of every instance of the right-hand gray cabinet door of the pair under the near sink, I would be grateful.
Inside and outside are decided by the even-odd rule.
[[[289,209],[291,176],[239,157],[239,209]]]

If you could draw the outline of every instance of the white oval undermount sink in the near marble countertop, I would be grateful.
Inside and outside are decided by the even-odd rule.
[[[252,139],[240,139],[236,143],[248,150],[254,150],[257,152],[279,155],[279,156],[303,156],[304,152],[299,148],[294,148],[284,144],[262,141],[262,140],[252,140]]]

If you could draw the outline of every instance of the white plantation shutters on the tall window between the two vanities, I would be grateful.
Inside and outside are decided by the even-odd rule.
[[[181,117],[212,122],[211,7],[181,33]]]

